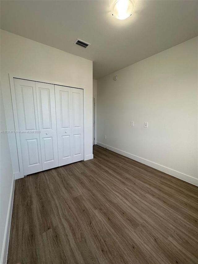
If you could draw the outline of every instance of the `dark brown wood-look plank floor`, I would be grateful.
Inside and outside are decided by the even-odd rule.
[[[16,180],[7,263],[198,263],[198,187],[94,146]]]

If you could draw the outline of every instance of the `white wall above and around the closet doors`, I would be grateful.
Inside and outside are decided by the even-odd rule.
[[[93,158],[93,62],[1,30],[1,84],[8,130],[14,129],[8,73],[14,77],[84,89],[84,159]],[[15,176],[19,172],[15,134],[9,134]],[[16,176],[18,177],[18,176]]]

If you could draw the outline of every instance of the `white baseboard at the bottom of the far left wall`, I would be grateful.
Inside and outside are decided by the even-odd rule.
[[[3,246],[2,246],[1,261],[0,261],[1,264],[6,264],[7,262],[7,251],[8,251],[9,237],[10,237],[10,226],[11,226],[11,218],[12,218],[12,207],[13,207],[13,201],[14,201],[14,191],[15,191],[15,175],[13,174],[9,206],[8,206],[7,218],[6,218],[6,227],[5,227],[4,237],[3,237]]]

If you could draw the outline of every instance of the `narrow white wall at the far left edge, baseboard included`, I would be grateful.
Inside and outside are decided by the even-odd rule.
[[[0,92],[0,130],[7,130],[2,91]],[[14,177],[11,164],[8,134],[0,133],[0,263],[6,263]]]

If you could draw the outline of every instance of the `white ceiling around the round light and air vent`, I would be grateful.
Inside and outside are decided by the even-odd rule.
[[[198,35],[198,1],[138,0],[115,19],[114,1],[1,1],[1,28],[93,61],[99,79]],[[74,45],[76,38],[91,45]]]

